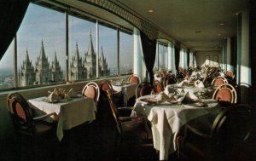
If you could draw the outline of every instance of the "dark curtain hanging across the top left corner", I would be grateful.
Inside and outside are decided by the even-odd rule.
[[[15,37],[26,14],[29,0],[8,0],[0,2],[0,60]]]

